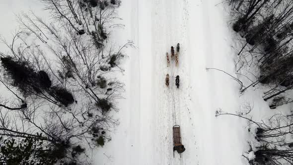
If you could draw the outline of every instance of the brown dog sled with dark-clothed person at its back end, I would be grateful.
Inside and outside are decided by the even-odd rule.
[[[175,157],[174,156],[175,150],[177,151],[178,154],[181,154],[185,151],[185,148],[181,142],[180,126],[179,125],[173,126],[173,157]],[[181,155],[180,155],[180,157],[181,157]]]

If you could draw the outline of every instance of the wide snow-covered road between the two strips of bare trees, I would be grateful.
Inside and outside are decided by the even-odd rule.
[[[222,108],[239,107],[238,86],[206,68],[234,72],[231,32],[219,0],[123,0],[123,41],[134,40],[124,76],[126,99],[112,141],[98,153],[104,165],[245,165],[243,123],[215,118]],[[178,67],[167,67],[165,53],[180,43]],[[173,69],[172,69],[173,68]],[[165,75],[180,76],[175,109]],[[176,116],[174,116],[174,110]],[[186,151],[172,151],[172,126],[181,127]]]

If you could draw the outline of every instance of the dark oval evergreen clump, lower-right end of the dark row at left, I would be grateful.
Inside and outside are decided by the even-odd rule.
[[[68,106],[69,104],[72,104],[74,102],[73,95],[65,88],[60,86],[52,86],[51,89],[55,96],[55,99],[63,105]]]

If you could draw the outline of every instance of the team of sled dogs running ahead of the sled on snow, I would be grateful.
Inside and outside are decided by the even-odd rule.
[[[176,46],[176,54],[175,54],[175,51],[174,51],[174,47],[171,46],[171,60],[174,60],[175,61],[175,65],[176,67],[178,66],[178,62],[179,62],[179,50],[180,50],[180,44],[178,43],[177,46]],[[167,58],[167,67],[170,67],[170,57],[169,57],[169,54],[168,52],[166,53],[166,58]],[[166,75],[166,79],[165,79],[165,84],[167,86],[169,86],[169,74]],[[177,75],[176,76],[176,79],[175,79],[175,85],[177,86],[177,88],[179,88],[179,76]]]

